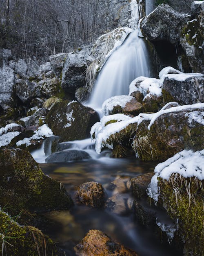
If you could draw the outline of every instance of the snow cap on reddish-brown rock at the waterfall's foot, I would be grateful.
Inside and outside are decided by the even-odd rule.
[[[135,98],[127,95],[113,96],[108,100],[104,101],[104,103],[102,104],[102,112],[104,113],[104,115],[108,116],[113,110],[114,106],[119,105],[124,108],[126,103],[130,102],[131,100],[135,100]]]

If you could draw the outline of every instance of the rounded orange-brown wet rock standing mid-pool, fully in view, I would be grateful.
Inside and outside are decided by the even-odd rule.
[[[98,182],[86,182],[78,187],[78,202],[91,207],[104,205],[104,189]]]

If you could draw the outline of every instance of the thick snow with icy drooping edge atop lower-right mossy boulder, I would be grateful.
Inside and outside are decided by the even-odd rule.
[[[178,173],[184,178],[197,177],[200,180],[204,179],[204,150],[197,152],[183,150],[165,162],[159,163],[154,172],[155,175],[147,188],[147,194],[157,202],[160,194],[158,177],[169,180],[171,174]]]

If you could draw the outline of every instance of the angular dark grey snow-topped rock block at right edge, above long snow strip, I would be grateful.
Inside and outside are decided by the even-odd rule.
[[[204,102],[204,76],[186,77],[179,79],[180,75],[166,76],[163,82],[164,102],[172,101],[180,104],[195,104]]]

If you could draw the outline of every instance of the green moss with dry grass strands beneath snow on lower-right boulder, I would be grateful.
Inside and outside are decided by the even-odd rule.
[[[168,214],[174,220],[179,220],[178,232],[184,241],[184,255],[203,255],[204,181],[173,174],[169,181],[159,178],[158,186],[160,199]]]

